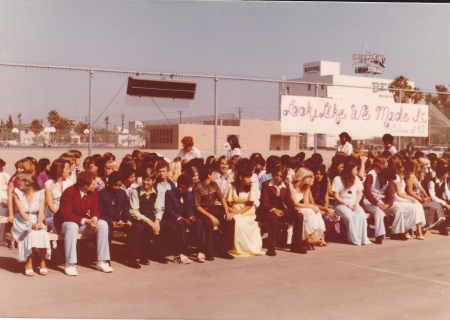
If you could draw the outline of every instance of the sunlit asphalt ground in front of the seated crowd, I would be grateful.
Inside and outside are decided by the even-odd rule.
[[[0,248],[3,318],[140,319],[450,319],[450,237],[385,240],[382,245],[329,242],[306,255],[279,250],[204,264],[124,264],[94,268],[79,250],[77,277],[53,265],[24,275],[17,250]]]

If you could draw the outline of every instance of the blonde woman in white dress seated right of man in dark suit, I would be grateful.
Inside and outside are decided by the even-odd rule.
[[[312,204],[310,199],[310,187],[314,181],[314,174],[307,168],[299,168],[294,174],[293,183],[289,184],[292,201],[295,209],[303,214],[302,240],[308,244],[309,249],[314,249],[314,243],[325,246],[324,232],[325,222],[319,207]]]

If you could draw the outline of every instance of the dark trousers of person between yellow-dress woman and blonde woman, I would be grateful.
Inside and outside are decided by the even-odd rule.
[[[281,209],[280,209],[281,210]],[[292,232],[291,247],[299,247],[302,245],[303,232],[303,214],[297,212],[295,209],[282,209],[284,215],[279,217],[275,212],[269,212],[260,208],[258,211],[258,221],[266,222],[269,225],[267,246],[274,248],[277,245],[278,225],[280,222],[293,223],[294,229]]]

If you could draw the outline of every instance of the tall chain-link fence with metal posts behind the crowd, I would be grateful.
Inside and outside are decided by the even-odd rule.
[[[129,77],[196,84],[193,100],[127,94]],[[374,82],[375,83],[375,82]],[[384,87],[384,95],[392,92]],[[295,155],[315,150],[330,158],[338,134],[282,132],[283,95],[310,97],[367,96],[375,86],[309,83],[207,75],[156,74],[55,66],[0,64],[0,158],[13,171],[16,160],[33,156],[55,159],[70,149],[118,158],[134,149],[174,158],[181,139],[192,136],[202,156],[226,154],[227,137],[236,135],[244,156],[260,152]],[[400,90],[401,91],[401,90]],[[402,100],[407,97],[404,91]],[[394,92],[394,96],[396,93]],[[424,93],[429,103],[427,137],[397,137],[397,149],[410,143],[425,152],[447,147],[450,120],[448,94]],[[398,97],[397,97],[398,100]],[[405,101],[404,101],[405,102]],[[355,149],[380,149],[381,136],[353,140]],[[434,149],[433,149],[434,148]]]

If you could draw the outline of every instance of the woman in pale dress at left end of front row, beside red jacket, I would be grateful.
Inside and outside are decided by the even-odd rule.
[[[44,226],[44,190],[31,173],[18,175],[19,188],[14,189],[14,216],[12,234],[18,243],[19,260],[25,261],[25,275],[33,276],[33,250],[39,249],[41,275],[47,275],[45,259],[50,259],[50,240]]]

